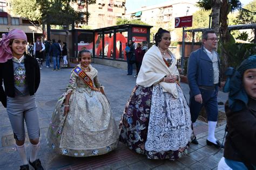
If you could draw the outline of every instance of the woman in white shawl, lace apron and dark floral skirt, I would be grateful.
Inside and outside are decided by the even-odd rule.
[[[119,125],[119,140],[149,159],[176,160],[187,153],[191,116],[179,87],[170,32],[159,29],[146,52]]]

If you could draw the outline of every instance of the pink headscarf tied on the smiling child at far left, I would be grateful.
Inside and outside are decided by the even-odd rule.
[[[12,58],[12,51],[10,44],[10,39],[23,39],[27,40],[26,34],[24,31],[19,29],[11,30],[8,34],[2,34],[2,40],[0,41],[0,62],[6,62]]]

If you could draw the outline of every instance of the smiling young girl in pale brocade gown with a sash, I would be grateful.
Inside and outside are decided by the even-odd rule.
[[[90,157],[117,148],[119,131],[91,63],[91,53],[78,53],[68,88],[59,98],[48,130],[48,145],[59,154]]]

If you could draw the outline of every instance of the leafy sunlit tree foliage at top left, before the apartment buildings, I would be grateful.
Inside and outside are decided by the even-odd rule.
[[[28,18],[32,22],[46,22],[52,25],[66,25],[85,23],[85,16],[90,16],[89,12],[75,10],[70,6],[71,0],[11,0],[11,10],[14,15]],[[85,1],[79,3],[79,6],[86,4]],[[87,0],[88,4],[96,3],[96,0]],[[22,10],[21,10],[22,9]]]

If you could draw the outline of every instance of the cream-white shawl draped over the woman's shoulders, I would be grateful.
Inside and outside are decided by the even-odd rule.
[[[168,52],[170,51],[168,50]],[[175,98],[178,98],[176,83],[160,82],[165,75],[171,74],[179,77],[176,63],[177,60],[173,57],[172,65],[167,67],[159,48],[156,45],[153,45],[144,55],[136,84],[143,87],[150,87],[153,84],[159,83],[164,92],[168,92]]]

